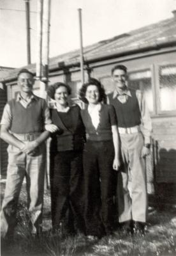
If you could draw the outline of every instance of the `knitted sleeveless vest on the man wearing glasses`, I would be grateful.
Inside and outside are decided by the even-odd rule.
[[[8,104],[12,114],[11,132],[24,134],[43,131],[44,99],[33,100],[27,108],[15,99],[10,100]]]

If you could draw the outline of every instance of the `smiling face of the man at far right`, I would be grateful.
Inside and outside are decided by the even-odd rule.
[[[115,69],[112,74],[112,79],[114,81],[114,84],[116,88],[118,89],[124,89],[126,88],[127,83],[127,74],[124,70],[121,69]]]

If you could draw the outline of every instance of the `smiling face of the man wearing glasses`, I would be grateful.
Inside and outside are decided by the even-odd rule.
[[[33,92],[34,79],[29,73],[21,73],[18,76],[18,86],[20,87],[20,93]]]

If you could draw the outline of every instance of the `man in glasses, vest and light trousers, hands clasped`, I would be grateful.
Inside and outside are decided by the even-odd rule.
[[[4,107],[1,138],[8,146],[6,189],[1,211],[1,237],[13,236],[18,196],[24,177],[27,184],[27,206],[31,213],[31,232],[41,230],[46,148],[50,113],[44,99],[33,94],[34,78],[27,69],[17,76],[20,93]]]

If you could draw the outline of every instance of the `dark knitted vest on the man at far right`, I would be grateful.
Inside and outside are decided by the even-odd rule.
[[[110,104],[115,108],[119,127],[133,127],[141,124],[141,114],[136,92],[133,90],[130,90],[130,92],[132,97],[128,97],[126,103],[121,103],[117,98],[113,99],[113,93],[108,95]]]

